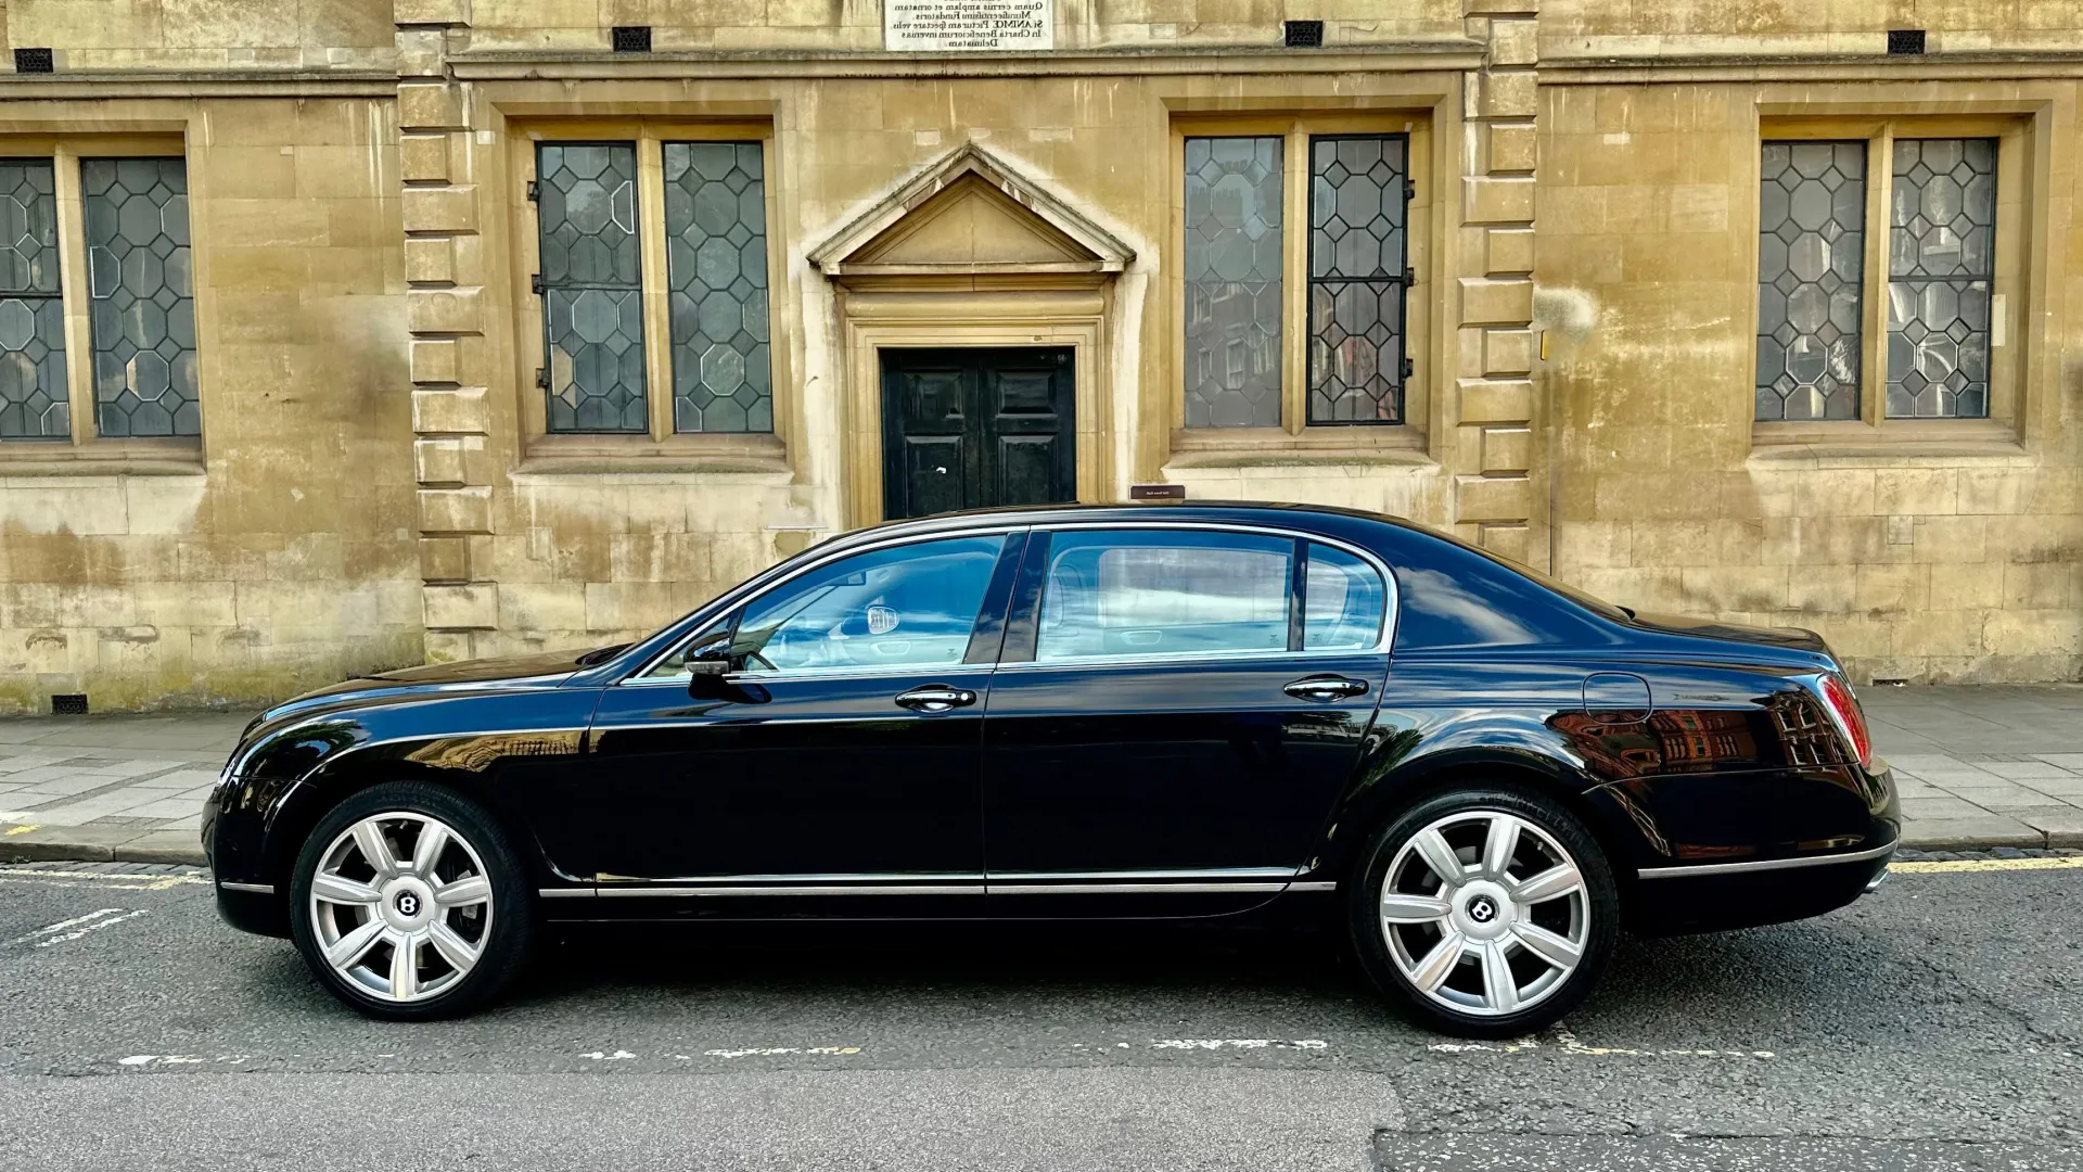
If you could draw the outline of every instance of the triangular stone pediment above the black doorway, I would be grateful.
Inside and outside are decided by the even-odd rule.
[[[1135,252],[969,144],[914,175],[810,261],[831,277],[1119,273]]]

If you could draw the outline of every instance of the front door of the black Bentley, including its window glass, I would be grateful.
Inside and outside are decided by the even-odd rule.
[[[812,565],[606,688],[583,878],[721,913],[975,911],[985,694],[1023,540]]]

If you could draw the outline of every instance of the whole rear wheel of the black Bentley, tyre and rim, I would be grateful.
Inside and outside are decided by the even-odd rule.
[[[1612,868],[1560,803],[1514,788],[1419,801],[1360,853],[1352,945],[1435,1030],[1541,1030],[1591,991],[1618,928]]]

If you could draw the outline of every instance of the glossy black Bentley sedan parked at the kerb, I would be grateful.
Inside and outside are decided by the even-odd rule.
[[[1327,915],[1506,1036],[1616,930],[1885,874],[1887,767],[1810,632],[1641,615],[1419,526],[1048,507],[814,546],[642,642],[350,680],[246,730],[217,903],[379,1018],[583,920]]]

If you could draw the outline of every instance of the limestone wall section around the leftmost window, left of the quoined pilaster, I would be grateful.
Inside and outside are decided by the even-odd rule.
[[[15,102],[6,131],[94,125],[185,136],[204,434],[69,473],[0,444],[0,711],[246,705],[417,663],[390,100]]]

